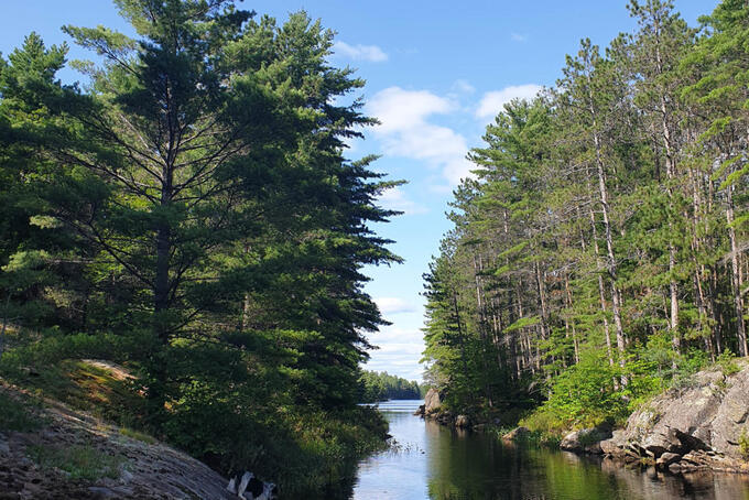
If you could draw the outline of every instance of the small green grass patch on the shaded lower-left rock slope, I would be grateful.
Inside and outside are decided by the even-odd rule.
[[[107,455],[93,446],[30,446],[26,453],[42,468],[64,470],[74,480],[95,481],[105,477],[117,479],[126,461],[121,456]]]

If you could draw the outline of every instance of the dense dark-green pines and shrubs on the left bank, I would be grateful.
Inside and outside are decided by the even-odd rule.
[[[119,361],[121,421],[307,491],[384,434],[356,404],[384,323],[361,270],[399,261],[369,229],[397,183],[345,156],[363,81],[304,12],[115,3],[135,39],[64,28],[101,64],[33,33],[0,58],[2,373]]]

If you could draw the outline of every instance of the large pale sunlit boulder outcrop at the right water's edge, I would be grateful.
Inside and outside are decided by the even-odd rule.
[[[632,413],[627,426],[600,443],[601,452],[654,463],[672,472],[703,468],[749,472],[739,436],[749,433],[749,363],[737,373],[697,373]]]

